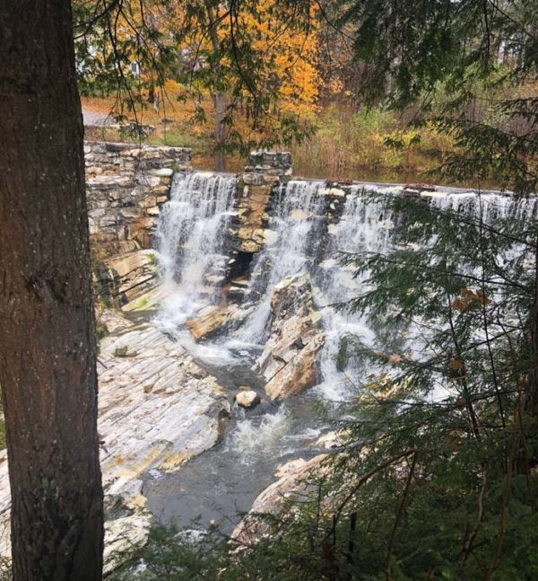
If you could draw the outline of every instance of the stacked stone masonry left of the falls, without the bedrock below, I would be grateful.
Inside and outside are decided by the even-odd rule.
[[[90,240],[100,258],[152,247],[172,174],[190,170],[190,149],[85,142]]]

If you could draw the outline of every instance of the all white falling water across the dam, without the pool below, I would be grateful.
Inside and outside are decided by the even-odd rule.
[[[242,345],[263,344],[271,313],[273,289],[285,277],[305,274],[311,278],[316,306],[323,314],[325,347],[320,357],[321,382],[316,391],[325,401],[349,397],[353,378],[365,371],[351,360],[338,368],[336,358],[343,339],[353,336],[375,342],[375,330],[365,317],[339,311],[353,296],[367,290],[367,275],[356,277],[352,266],[340,264],[342,253],[386,253],[393,227],[390,211],[373,193],[394,195],[398,188],[353,186],[348,189],[342,216],[327,224],[327,197],[322,181],[291,180],[274,202],[268,242],[256,255],[251,283],[244,304],[252,313],[239,330],[220,344],[195,344],[183,332],[188,316],[218,297],[214,286],[221,280],[227,257],[227,226],[233,215],[234,176],[197,172],[176,176],[170,201],[163,207],[158,230],[159,257],[168,298],[161,312],[161,325],[178,330],[178,338],[199,360],[208,365],[235,365]],[[474,192],[431,192],[433,207],[464,216],[481,216],[485,224],[495,217],[534,216],[535,200],[515,202],[507,196]],[[239,359],[238,359],[239,351]]]

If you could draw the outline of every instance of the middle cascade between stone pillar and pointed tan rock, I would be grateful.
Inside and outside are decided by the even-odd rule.
[[[271,313],[273,288],[283,278],[311,270],[319,250],[318,235],[324,221],[325,197],[322,181],[291,180],[279,191],[269,223],[270,240],[259,252],[252,270],[247,301],[256,303],[240,338],[261,342]]]

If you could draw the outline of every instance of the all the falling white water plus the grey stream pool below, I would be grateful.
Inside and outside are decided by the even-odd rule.
[[[165,304],[161,320],[171,329],[212,300],[210,279],[218,281],[226,266],[223,233],[234,209],[235,187],[233,178],[209,173],[174,180],[159,224],[163,278],[172,286],[174,299]],[[179,339],[219,381],[225,369],[230,375],[226,386],[231,390],[247,384],[261,391],[256,382],[249,383],[252,378],[245,374],[245,367],[251,372],[267,339],[274,287],[285,277],[304,273],[312,282],[315,308],[324,327],[325,346],[317,355],[320,383],[304,396],[283,403],[265,401],[247,411],[234,406],[230,432],[220,445],[187,462],[180,471],[146,485],[154,515],[165,515],[165,520],[173,517],[184,525],[195,515],[203,515],[204,523],[221,517],[236,523],[237,513],[247,511],[259,490],[273,483],[278,462],[320,452],[317,436],[329,426],[315,413],[318,397],[326,402],[346,401],[355,378],[360,382],[378,371],[366,368],[360,357],[349,358],[345,365],[345,357],[339,357],[348,336],[372,346],[381,337],[366,316],[334,308],[369,290],[368,273],[355,276],[352,266],[342,266],[340,255],[390,251],[395,224],[383,194],[405,194],[401,187],[374,185],[334,190],[325,189],[321,181],[291,180],[283,186],[267,210],[265,245],[251,264],[247,296],[239,305],[242,314],[248,311],[247,318],[214,342],[195,343],[187,333]],[[534,219],[537,209],[535,199],[516,201],[489,193],[478,197],[461,190],[425,192],[422,197],[438,210],[474,218],[482,213],[485,223],[503,216]],[[432,395],[444,396],[441,392]]]

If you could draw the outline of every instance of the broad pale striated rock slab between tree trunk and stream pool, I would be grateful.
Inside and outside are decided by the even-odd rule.
[[[174,470],[214,445],[230,404],[213,377],[150,324],[101,341],[101,466],[108,494],[149,468]]]

